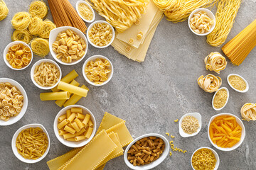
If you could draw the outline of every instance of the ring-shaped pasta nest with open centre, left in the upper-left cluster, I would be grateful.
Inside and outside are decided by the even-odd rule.
[[[30,22],[31,16],[27,12],[15,13],[14,17],[11,20],[11,24],[16,30],[26,30]]]

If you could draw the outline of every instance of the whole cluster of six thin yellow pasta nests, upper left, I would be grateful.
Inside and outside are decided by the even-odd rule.
[[[11,40],[23,41],[27,44],[31,42],[31,48],[35,55],[45,57],[50,52],[49,42],[46,39],[49,38],[50,30],[53,30],[56,26],[48,19],[43,21],[48,13],[46,3],[43,1],[33,1],[28,12],[15,13],[11,20],[15,29],[11,35]],[[31,41],[33,36],[40,38]]]

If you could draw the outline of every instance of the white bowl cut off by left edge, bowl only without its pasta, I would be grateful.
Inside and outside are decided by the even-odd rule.
[[[28,96],[26,94],[26,91],[21,86],[21,84],[19,84],[17,81],[13,79],[0,78],[0,83],[5,83],[5,82],[11,83],[11,85],[16,86],[17,89],[21,91],[21,94],[23,96],[23,106],[21,109],[21,113],[19,113],[17,116],[11,117],[8,121],[0,120],[0,126],[12,125],[18,122],[18,120],[20,120],[23,117],[23,115],[26,113],[26,109],[28,107]]]

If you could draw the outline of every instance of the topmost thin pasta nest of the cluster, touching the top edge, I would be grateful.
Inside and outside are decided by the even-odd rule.
[[[39,18],[43,19],[48,13],[46,3],[43,1],[31,2],[31,5],[29,6],[29,13],[32,17],[38,16]]]

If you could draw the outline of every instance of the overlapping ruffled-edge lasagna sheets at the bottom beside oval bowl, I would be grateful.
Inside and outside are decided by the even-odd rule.
[[[108,161],[124,154],[122,147],[129,145],[132,140],[125,121],[106,112],[95,137],[85,147],[73,149],[47,164],[50,170],[104,169]]]

